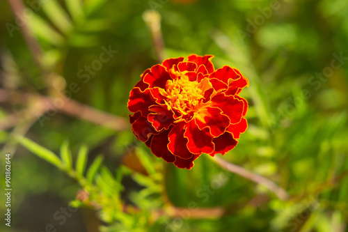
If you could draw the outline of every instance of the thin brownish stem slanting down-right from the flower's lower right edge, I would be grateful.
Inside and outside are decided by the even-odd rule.
[[[267,187],[267,189],[271,192],[274,192],[274,194],[276,194],[276,196],[278,196],[280,200],[287,201],[290,198],[289,194],[287,194],[287,192],[283,190],[283,188],[279,187],[273,181],[263,176],[260,176],[256,173],[252,173],[251,171],[239,167],[236,164],[226,162],[225,160],[222,160],[220,157],[217,156],[215,156],[212,160],[214,160],[216,164],[219,164],[221,167],[223,167],[223,169],[226,169],[227,171],[230,171],[248,180],[258,183],[264,187]]]

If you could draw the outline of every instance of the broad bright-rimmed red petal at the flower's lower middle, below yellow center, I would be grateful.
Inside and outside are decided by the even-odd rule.
[[[209,154],[214,151],[214,144],[212,143],[213,138],[209,134],[209,130],[200,130],[193,120],[187,123],[184,137],[187,137],[189,140],[187,148],[189,148],[191,153]]]

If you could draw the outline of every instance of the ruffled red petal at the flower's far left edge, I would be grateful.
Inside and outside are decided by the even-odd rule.
[[[147,116],[149,114],[148,108],[155,104],[155,99],[152,98],[149,88],[146,88],[145,91],[141,91],[140,88],[135,87],[130,92],[128,109],[133,113],[141,111],[143,116]]]

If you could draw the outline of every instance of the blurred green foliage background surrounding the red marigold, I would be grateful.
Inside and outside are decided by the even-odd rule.
[[[273,180],[290,201],[204,155],[177,169],[136,141],[127,100],[158,63],[142,17],[151,8],[166,57],[213,54],[215,68],[249,79],[249,127],[223,158]],[[11,153],[13,185],[11,227],[1,219],[1,231],[348,231],[348,1],[9,0],[0,25],[0,162],[4,173]],[[64,95],[91,118],[121,119],[104,126],[80,108],[64,111]],[[113,177],[127,167],[124,188],[101,208],[63,216],[81,186],[15,134],[56,154],[65,144],[73,163],[86,146],[88,167],[99,154]],[[105,208],[116,201],[135,208]]]

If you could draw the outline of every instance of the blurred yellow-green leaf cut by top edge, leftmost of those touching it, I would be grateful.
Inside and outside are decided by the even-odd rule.
[[[45,11],[51,22],[63,33],[67,34],[71,31],[72,25],[67,13],[56,0],[49,0],[42,3],[42,10]]]

